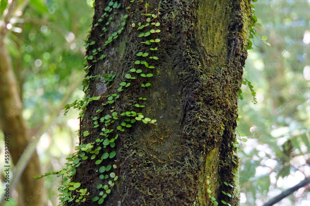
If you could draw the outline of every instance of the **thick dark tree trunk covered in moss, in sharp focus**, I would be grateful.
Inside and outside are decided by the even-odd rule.
[[[95,41],[95,44],[88,46],[86,54],[91,56],[92,50],[98,47],[103,51],[88,60],[88,65],[92,65],[88,75],[116,74],[116,77],[108,84],[112,87],[107,89],[103,78],[91,80],[90,97],[101,98],[87,106],[81,132],[88,131],[90,135],[84,140],[82,136],[82,143],[103,138],[100,132],[104,125],[99,123],[99,127],[93,128],[95,124],[92,119],[110,114],[112,106],[119,117],[114,120],[115,128],[112,124],[108,127],[114,129],[108,138],[116,134],[119,136],[114,148],[108,146],[99,154],[101,156],[114,150],[115,158],[104,159],[99,165],[95,164],[99,158],[81,160],[73,181],[81,182],[81,188],[88,188],[90,192],[89,200],[83,205],[98,205],[98,202],[91,201],[94,196],[100,197],[99,193],[103,190],[97,189],[97,185],[108,185],[110,180],[101,180],[98,169],[108,164],[117,165],[110,171],[119,178],[103,205],[213,205],[207,188],[219,205],[223,205],[221,200],[238,205],[239,162],[233,155],[233,144],[238,90],[247,56],[245,46],[251,21],[250,1],[121,1],[118,2],[121,7],[113,8],[110,13],[104,11],[108,3],[95,1],[93,29],[88,40],[89,43]],[[161,32],[155,37],[160,42],[151,45],[140,42],[152,39],[154,34],[148,37],[138,35],[153,29],[153,25],[138,31],[130,26],[135,23],[137,27],[138,22],[144,25],[145,17],[141,14],[145,13],[145,3],[149,3],[148,13],[155,14],[155,8],[160,11],[157,18],[160,26],[156,28]],[[117,14],[113,14],[114,11]],[[113,19],[108,20],[108,16],[98,22],[104,12],[114,15]],[[107,38],[122,28],[124,15],[128,15],[124,29],[116,39],[104,46]],[[109,24],[105,25],[107,21]],[[96,23],[99,25],[95,26]],[[106,27],[106,32],[103,27]],[[151,51],[150,47],[158,47],[158,50]],[[149,56],[159,59],[137,56],[138,52],[148,52]],[[98,57],[102,54],[106,57],[100,60]],[[146,60],[155,68],[137,65],[136,60]],[[130,72],[131,68],[154,75],[141,77]],[[136,79],[127,79],[126,74]],[[131,85],[123,86],[124,90],[117,92],[121,82]],[[149,87],[141,87],[142,83],[147,82],[151,83]],[[113,93],[120,97],[113,104],[102,105],[108,101],[104,96]],[[139,97],[147,100],[139,100]],[[137,108],[135,104],[145,107]],[[101,109],[101,113],[96,113]],[[119,114],[126,111],[141,112],[144,117],[157,119],[157,124],[136,121],[130,128],[123,127],[125,131],[121,132],[116,126],[126,118]],[[210,181],[209,186],[206,180]],[[234,187],[225,185],[224,181]],[[222,190],[232,197],[224,195]],[[69,205],[78,203],[73,201]]]

